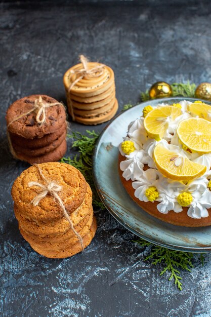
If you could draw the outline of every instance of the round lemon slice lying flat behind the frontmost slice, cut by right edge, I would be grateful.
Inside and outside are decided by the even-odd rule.
[[[211,122],[188,118],[179,123],[177,134],[186,149],[201,154],[211,152]]]

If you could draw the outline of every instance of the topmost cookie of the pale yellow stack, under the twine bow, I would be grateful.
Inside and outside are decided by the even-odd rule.
[[[74,65],[69,68],[63,77],[63,83],[67,92],[80,97],[92,97],[105,92],[114,83],[114,73],[113,70],[101,63],[89,62],[88,69],[92,69],[96,66],[103,66],[103,72],[99,77],[92,75],[85,75],[80,81],[75,83],[75,85],[69,91],[69,87],[75,81],[79,75],[70,74],[70,70],[79,70],[83,68],[82,63]]]

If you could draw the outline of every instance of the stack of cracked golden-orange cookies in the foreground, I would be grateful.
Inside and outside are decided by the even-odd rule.
[[[46,186],[52,181],[62,186],[58,195],[83,248],[87,247],[97,229],[92,190],[83,175],[68,164],[38,164],[22,172],[12,187],[14,211],[21,234],[36,252],[48,258],[66,258],[80,252],[82,246],[60,204],[50,192],[37,205],[33,201],[40,193],[34,182]]]

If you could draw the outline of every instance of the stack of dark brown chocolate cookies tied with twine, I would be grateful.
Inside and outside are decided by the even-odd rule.
[[[21,98],[10,105],[6,120],[9,145],[17,159],[34,164],[58,161],[64,156],[66,112],[54,98]]]

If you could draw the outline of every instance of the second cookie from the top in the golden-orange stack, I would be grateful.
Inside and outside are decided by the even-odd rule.
[[[32,235],[39,235],[41,238],[64,234],[70,230],[70,224],[66,220],[64,215],[58,220],[44,222],[40,221],[39,219],[29,218],[29,215],[21,213],[16,205],[14,205],[14,212],[21,227],[25,231],[29,232]],[[85,195],[85,199],[76,210],[70,213],[69,216],[74,227],[77,225],[82,227],[83,219],[85,219],[87,216],[90,217],[91,213],[92,190],[90,188],[90,185],[87,183],[87,192]]]

